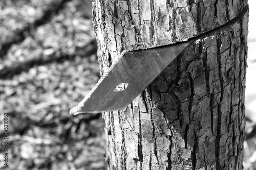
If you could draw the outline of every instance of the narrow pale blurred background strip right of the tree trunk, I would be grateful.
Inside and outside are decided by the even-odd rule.
[[[244,169],[256,169],[256,1],[249,0],[248,59],[245,90],[247,140],[244,142]],[[248,137],[249,135],[249,137]]]

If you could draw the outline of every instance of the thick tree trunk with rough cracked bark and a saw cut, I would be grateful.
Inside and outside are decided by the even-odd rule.
[[[203,35],[127,108],[103,114],[109,169],[243,168],[247,7],[243,0],[93,1],[101,74],[125,50]]]

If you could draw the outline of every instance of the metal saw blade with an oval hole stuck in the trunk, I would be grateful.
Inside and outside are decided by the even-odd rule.
[[[193,40],[124,53],[71,114],[121,110],[129,105]]]

